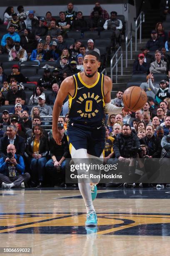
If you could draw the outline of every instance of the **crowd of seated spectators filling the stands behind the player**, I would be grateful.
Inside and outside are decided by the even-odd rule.
[[[95,3],[90,19],[83,18],[82,12],[75,12],[73,4],[67,5],[66,12],[60,12],[56,20],[48,11],[39,19],[35,11],[24,12],[18,6],[18,14],[13,8],[7,8],[4,13],[4,24],[7,32],[2,36],[0,54],[8,54],[8,61],[16,61],[11,67],[11,73],[5,74],[0,67],[0,105],[11,105],[3,108],[0,120],[0,182],[2,187],[24,187],[24,182],[31,187],[65,186],[65,166],[70,158],[67,143],[67,112],[68,99],[65,99],[58,129],[62,135],[61,145],[52,138],[52,131],[47,132],[52,120],[52,107],[60,88],[67,76],[83,71],[83,56],[85,51],[100,49],[95,46],[93,39],[82,44],[81,38],[74,44],[67,43],[69,31],[111,30],[112,46],[121,44],[122,21],[117,19],[117,13],[112,11],[110,17],[100,3]],[[127,178],[124,184],[128,186],[148,186],[143,176],[152,177],[154,172],[166,170],[170,162],[170,56],[168,35],[163,24],[158,22],[151,38],[133,65],[133,74],[145,74],[146,82],[141,83],[148,96],[143,109],[131,115],[109,115],[106,126],[105,164],[117,163],[122,168],[122,174]],[[42,76],[35,81],[34,91],[28,98],[25,83],[29,76],[23,72],[22,62],[35,61],[40,66],[48,61]],[[55,62],[55,68],[52,63]],[[42,67],[42,66],[41,66]],[[52,68],[52,69],[51,69]],[[167,77],[155,83],[155,74],[165,74]],[[123,91],[117,91],[111,103],[123,107]],[[43,124],[43,126],[42,126]],[[140,150],[139,150],[140,149]],[[13,157],[10,158],[9,152]],[[160,165],[153,161],[152,170],[148,168],[149,160],[160,159]],[[134,159],[140,172],[136,173]],[[144,161],[141,159],[145,159]],[[15,175],[6,177],[7,168],[15,166]],[[125,171],[129,168],[129,171]],[[126,167],[126,169],[124,168]],[[25,172],[25,176],[24,175]],[[167,171],[168,172],[168,171]],[[12,171],[11,171],[12,173]],[[15,178],[16,177],[16,178]],[[129,184],[129,177],[138,178],[138,184]],[[9,180],[10,179],[10,180]],[[164,182],[165,183],[165,182]],[[111,187],[113,182],[106,184]],[[158,184],[158,187],[160,185]]]

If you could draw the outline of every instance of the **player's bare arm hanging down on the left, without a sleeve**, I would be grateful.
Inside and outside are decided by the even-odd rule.
[[[67,77],[60,85],[60,90],[57,93],[57,97],[55,99],[53,112],[52,112],[52,136],[57,144],[61,144],[61,134],[58,131],[58,118],[61,113],[61,108],[63,101],[70,93],[74,94],[74,81],[72,77]]]

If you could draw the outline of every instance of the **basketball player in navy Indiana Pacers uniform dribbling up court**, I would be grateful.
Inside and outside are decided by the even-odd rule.
[[[67,77],[61,84],[53,108],[52,134],[57,144],[61,144],[57,129],[62,102],[69,96],[69,121],[67,125],[68,143],[72,159],[103,159],[105,148],[105,113],[129,113],[110,103],[112,81],[97,72],[100,55],[87,51],[83,59],[84,72]],[[77,163],[76,163],[77,164]],[[97,215],[92,204],[90,183],[78,183],[87,210],[86,226],[97,225]],[[92,186],[97,193],[97,187]]]

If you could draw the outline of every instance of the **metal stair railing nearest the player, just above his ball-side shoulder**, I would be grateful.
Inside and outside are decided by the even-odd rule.
[[[117,57],[118,53],[120,53],[120,56]],[[113,66],[113,60],[115,59],[115,64]],[[121,75],[123,74],[123,53],[122,53],[122,47],[119,46],[115,54],[112,56],[112,59],[110,60],[110,77],[113,81],[113,69],[116,67],[116,83],[117,83],[117,71],[118,71],[118,62],[121,61]]]

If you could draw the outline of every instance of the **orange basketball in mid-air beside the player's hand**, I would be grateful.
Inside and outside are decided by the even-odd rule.
[[[131,86],[123,93],[124,106],[130,110],[140,110],[145,106],[146,102],[146,92],[138,86]]]

